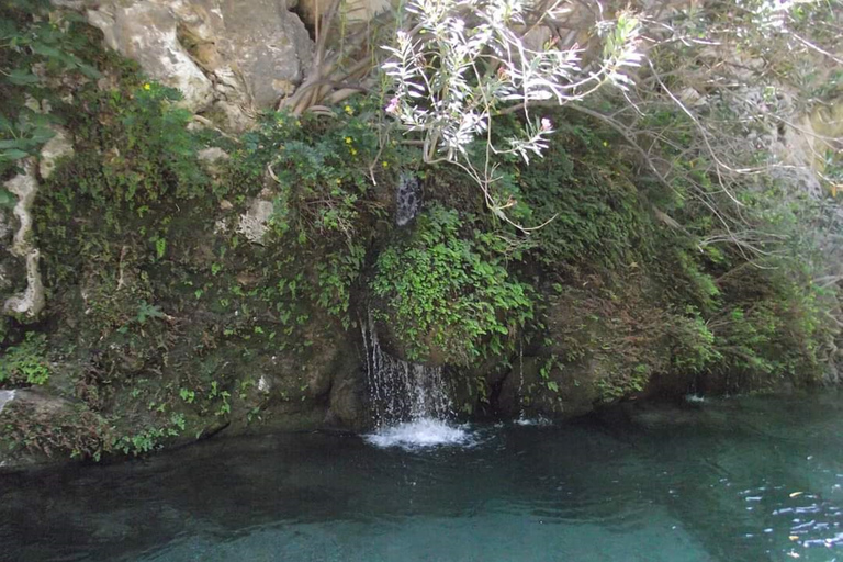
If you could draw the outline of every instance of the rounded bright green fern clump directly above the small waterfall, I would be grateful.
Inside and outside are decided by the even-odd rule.
[[[394,325],[411,359],[434,352],[438,362],[470,364],[486,349],[499,356],[532,317],[529,285],[507,273],[505,243],[471,222],[431,205],[408,240],[378,258],[372,290],[385,303],[379,317]]]

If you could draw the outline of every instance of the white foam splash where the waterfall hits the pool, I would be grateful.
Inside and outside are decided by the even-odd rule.
[[[401,447],[405,450],[474,445],[468,426],[451,425],[430,417],[384,427],[363,438],[375,447]]]

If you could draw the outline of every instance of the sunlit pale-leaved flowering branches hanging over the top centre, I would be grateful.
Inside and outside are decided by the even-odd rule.
[[[486,204],[498,216],[514,204],[496,200],[493,158],[517,154],[529,164],[541,156],[553,132],[548,119],[531,115],[533,104],[564,105],[599,87],[627,88],[625,75],[637,67],[638,20],[621,12],[614,21],[597,22],[603,40],[600,60],[583,64],[584,49],[563,46],[558,38],[541,47],[529,46],[528,35],[562,18],[560,2],[549,8],[528,0],[411,0],[408,18],[398,30],[383,65],[391,79],[385,111],[405,131],[423,137],[428,164],[449,161],[468,171],[483,190]],[[522,111],[525,131],[495,146],[492,126],[496,115]],[[486,161],[479,169],[467,153],[481,136],[486,139]],[[508,220],[507,220],[508,221]],[[516,225],[518,226],[518,225]]]

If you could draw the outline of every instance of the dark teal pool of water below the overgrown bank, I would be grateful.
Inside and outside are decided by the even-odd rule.
[[[841,398],[475,425],[439,447],[223,439],[5,474],[0,560],[843,562]]]

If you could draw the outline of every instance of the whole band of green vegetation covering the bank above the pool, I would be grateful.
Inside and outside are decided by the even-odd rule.
[[[662,90],[678,77],[636,92],[651,97],[633,117],[611,94],[498,113],[505,99],[480,102],[483,88],[512,86],[498,72],[483,88],[443,85],[460,115],[494,117],[494,131],[474,121],[463,136],[434,105],[402,131],[414,105],[384,79],[382,95],[336,109],[302,113],[311,98],[297,95],[296,111],[233,136],[103,53],[80,18],[23,0],[0,16],[13,47],[0,52],[0,179],[52,126],[75,146],[33,206],[47,311],[37,325],[0,323],[0,386],[58,397],[3,411],[0,439],[18,450],[99,459],[225,427],[313,427],[361,392],[357,324],[370,310],[391,350],[448,366],[469,389],[465,412],[505,411],[507,392],[569,415],[692,383],[816,384],[836,358],[838,284],[818,281],[835,203],[785,177],[731,173],[733,138],[712,133],[720,151],[709,150],[696,123],[743,117],[719,104],[677,112]],[[637,29],[619,23],[622,50]],[[656,66],[676,63],[659,48]],[[209,148],[213,162],[200,157]],[[424,204],[397,228],[402,173],[419,179]],[[2,212],[13,202],[0,190]],[[0,259],[20,277],[16,258]]]

